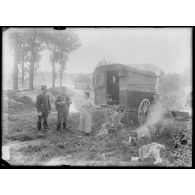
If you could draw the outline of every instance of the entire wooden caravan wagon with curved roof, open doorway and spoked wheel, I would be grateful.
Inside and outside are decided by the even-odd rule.
[[[122,64],[98,66],[94,70],[95,104],[119,106],[129,120],[143,124],[156,94],[157,75]]]

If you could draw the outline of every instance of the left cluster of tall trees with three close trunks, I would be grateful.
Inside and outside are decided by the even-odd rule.
[[[35,65],[40,59],[39,51],[43,48],[40,30],[33,28],[11,29],[10,43],[14,49],[13,88],[18,89],[19,65],[21,65],[22,86],[24,86],[25,63],[29,62],[29,89],[33,89]]]

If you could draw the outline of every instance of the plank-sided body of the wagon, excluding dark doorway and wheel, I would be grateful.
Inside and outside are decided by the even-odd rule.
[[[115,70],[119,76],[119,105],[136,109],[143,99],[153,102],[155,94],[156,75],[152,72],[136,70],[121,64],[103,65],[94,71],[95,104],[107,105],[106,73]]]

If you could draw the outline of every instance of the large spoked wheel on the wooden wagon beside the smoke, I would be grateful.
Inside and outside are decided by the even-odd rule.
[[[143,125],[148,112],[150,111],[151,105],[150,101],[148,99],[143,99],[139,105],[137,118],[140,125]]]

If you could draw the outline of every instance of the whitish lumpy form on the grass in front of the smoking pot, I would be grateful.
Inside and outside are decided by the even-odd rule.
[[[156,142],[143,145],[139,148],[139,157],[132,157],[132,161],[143,160],[145,158],[154,158],[154,164],[162,163],[161,151],[165,151],[165,146]]]

